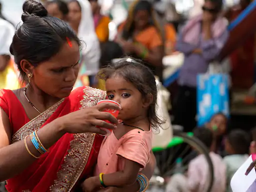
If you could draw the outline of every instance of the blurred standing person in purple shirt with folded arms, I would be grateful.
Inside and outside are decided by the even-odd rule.
[[[222,0],[205,0],[202,14],[190,19],[180,31],[176,50],[184,53],[173,104],[173,124],[191,131],[196,126],[196,76],[217,59],[228,38],[227,20],[220,16]]]

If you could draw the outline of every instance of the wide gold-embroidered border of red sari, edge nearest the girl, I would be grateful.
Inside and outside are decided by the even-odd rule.
[[[106,96],[105,91],[91,87],[85,87],[83,93],[80,109],[94,106]],[[72,189],[87,163],[94,137],[94,133],[74,134],[74,139],[70,141],[70,149],[64,157],[61,169],[57,172],[57,179],[50,186],[50,191],[69,192]]]

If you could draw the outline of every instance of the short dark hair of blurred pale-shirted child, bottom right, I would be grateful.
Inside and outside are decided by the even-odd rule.
[[[227,141],[231,145],[235,154],[247,154],[250,146],[250,136],[241,129],[230,131],[227,135]]]

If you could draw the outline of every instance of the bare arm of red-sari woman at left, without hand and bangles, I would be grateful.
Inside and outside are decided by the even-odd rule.
[[[46,148],[62,135],[61,126],[54,121],[38,130],[38,136]],[[11,131],[7,114],[0,108],[0,181],[20,173],[35,160],[26,150],[24,140],[10,144]],[[30,151],[39,156],[30,139],[26,139]]]

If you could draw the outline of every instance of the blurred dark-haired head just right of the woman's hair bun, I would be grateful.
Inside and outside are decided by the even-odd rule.
[[[63,0],[51,0],[46,4],[48,14],[57,17],[61,20],[67,21],[68,7]]]

